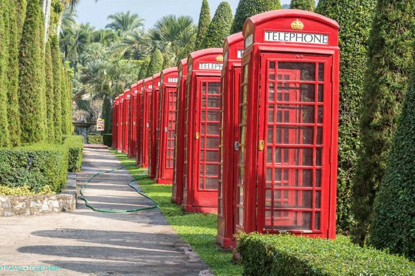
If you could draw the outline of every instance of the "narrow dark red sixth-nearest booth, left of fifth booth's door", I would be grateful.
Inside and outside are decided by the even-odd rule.
[[[159,98],[160,98],[160,73],[153,75],[153,90],[151,93],[150,108],[150,138],[149,138],[149,176],[156,178],[157,167],[157,136],[160,133],[158,128],[159,118]]]

